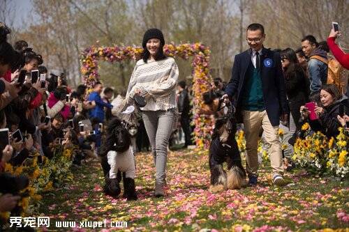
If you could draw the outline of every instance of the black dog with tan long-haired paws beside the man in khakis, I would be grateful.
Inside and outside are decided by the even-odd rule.
[[[225,105],[225,107],[221,107]],[[237,130],[234,109],[230,102],[219,101],[216,123],[209,146],[210,192],[240,189],[246,186],[246,172],[235,139]],[[221,110],[222,109],[222,110]],[[228,172],[223,163],[227,162]]]

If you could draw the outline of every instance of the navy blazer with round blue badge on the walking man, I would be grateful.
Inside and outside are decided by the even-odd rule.
[[[230,99],[234,97],[238,115],[241,111],[240,105],[242,103],[246,71],[250,63],[253,65],[251,53],[252,50],[248,49],[235,56],[234,65],[232,66],[232,78],[225,88],[225,93],[229,95]],[[260,72],[265,109],[269,121],[273,126],[279,125],[280,115],[289,112],[280,54],[263,47],[260,55]]]

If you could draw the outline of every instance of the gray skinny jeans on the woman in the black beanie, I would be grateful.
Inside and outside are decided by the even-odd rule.
[[[142,111],[142,118],[151,144],[151,153],[154,157],[156,182],[163,184],[166,179],[168,140],[176,121],[176,113],[174,109],[168,111]]]

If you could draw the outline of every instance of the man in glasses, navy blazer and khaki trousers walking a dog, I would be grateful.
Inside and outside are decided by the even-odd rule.
[[[232,77],[223,98],[233,99],[237,118],[244,123],[246,171],[249,185],[258,180],[258,139],[264,130],[275,185],[283,186],[283,159],[279,140],[279,121],[288,118],[288,105],[279,53],[263,47],[264,27],[250,24],[246,31],[250,49],[235,56]]]

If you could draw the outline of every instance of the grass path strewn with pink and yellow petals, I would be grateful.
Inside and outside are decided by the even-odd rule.
[[[92,163],[74,169],[75,178],[65,187],[45,194],[38,215],[50,216],[47,229],[54,231],[68,230],[55,228],[55,221],[104,219],[128,222],[124,231],[310,231],[349,227],[349,222],[338,216],[344,212],[348,219],[348,180],[308,176],[296,170],[287,173],[294,185],[275,187],[269,178],[269,164],[263,162],[258,187],[211,194],[207,153],[176,150],[168,156],[167,194],[158,199],[153,196],[155,169],[151,155],[140,153],[136,165],[138,201],[105,196],[101,166]],[[113,229],[105,228],[108,230]]]

